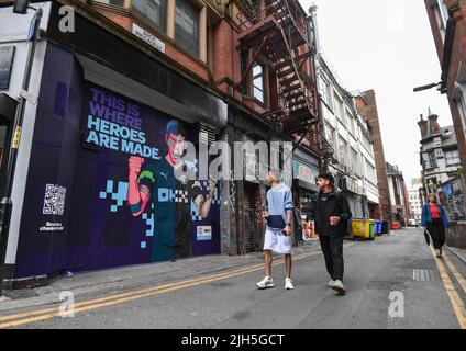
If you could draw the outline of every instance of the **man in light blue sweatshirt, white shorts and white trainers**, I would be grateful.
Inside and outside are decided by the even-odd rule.
[[[293,290],[291,281],[292,194],[291,190],[280,182],[277,170],[268,172],[267,181],[271,189],[267,191],[267,210],[263,213],[264,219],[267,220],[264,240],[266,274],[256,286],[260,290],[275,286],[271,278],[271,262],[273,252],[277,252],[285,254],[285,288]]]

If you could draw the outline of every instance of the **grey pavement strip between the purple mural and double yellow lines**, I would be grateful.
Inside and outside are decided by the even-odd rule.
[[[318,240],[306,241],[293,248],[293,253],[320,253]],[[280,256],[275,254],[275,259]],[[75,297],[86,294],[104,294],[131,290],[134,286],[165,284],[202,274],[222,272],[228,269],[248,267],[262,263],[264,253],[252,252],[246,256],[214,254],[170,262],[137,264],[109,270],[75,273],[71,278],[57,276],[47,286],[3,291],[0,299],[0,312],[41,306],[60,302],[60,293],[73,292]]]

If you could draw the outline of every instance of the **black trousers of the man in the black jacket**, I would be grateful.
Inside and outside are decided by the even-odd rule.
[[[323,257],[325,258],[326,271],[334,281],[343,281],[343,236],[319,237]]]

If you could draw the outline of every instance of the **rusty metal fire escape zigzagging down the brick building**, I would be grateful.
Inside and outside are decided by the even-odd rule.
[[[298,144],[308,139],[311,148],[321,155],[330,145],[320,134],[314,53],[308,43],[303,15],[301,21],[298,16],[298,11],[302,11],[298,1],[265,0],[265,8],[258,11],[251,2],[242,2],[245,9],[237,14],[240,46],[256,50],[241,84],[245,83],[257,57],[266,57],[278,80],[278,107],[263,113],[262,117],[275,131],[297,137]],[[304,70],[308,61],[311,73]]]

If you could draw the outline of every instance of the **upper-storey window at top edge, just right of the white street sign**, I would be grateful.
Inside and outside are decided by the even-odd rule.
[[[176,0],[175,42],[199,56],[199,9],[187,0]]]

